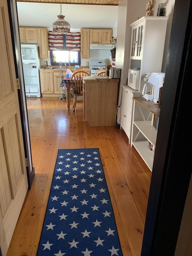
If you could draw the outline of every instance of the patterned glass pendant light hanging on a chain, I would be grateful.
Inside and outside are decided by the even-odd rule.
[[[53,22],[53,32],[60,32],[62,34],[66,34],[70,32],[70,24],[64,20],[64,15],[61,14],[62,6],[60,5],[60,15],[57,15],[58,20]]]

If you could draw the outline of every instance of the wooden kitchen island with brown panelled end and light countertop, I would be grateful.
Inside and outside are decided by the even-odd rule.
[[[83,113],[90,126],[116,125],[119,79],[83,77]]]

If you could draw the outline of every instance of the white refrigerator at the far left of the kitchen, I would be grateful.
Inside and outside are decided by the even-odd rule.
[[[38,45],[21,44],[23,75],[26,97],[41,97],[39,69],[41,68]]]

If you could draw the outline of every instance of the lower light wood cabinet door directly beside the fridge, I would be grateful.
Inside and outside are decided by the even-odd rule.
[[[41,93],[53,93],[53,72],[40,71]]]

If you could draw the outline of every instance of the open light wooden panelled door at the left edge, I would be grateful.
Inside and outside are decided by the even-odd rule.
[[[5,256],[28,181],[6,0],[0,0],[0,9],[0,246]]]

